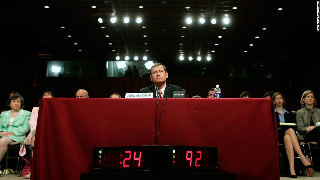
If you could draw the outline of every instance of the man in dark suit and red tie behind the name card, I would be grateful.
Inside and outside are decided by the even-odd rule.
[[[150,69],[150,79],[154,85],[142,88],[139,92],[153,92],[156,98],[156,87],[159,88],[159,98],[173,98],[173,91],[182,91],[179,86],[167,84],[167,68],[160,63],[155,63]]]

